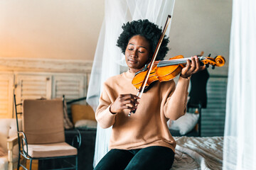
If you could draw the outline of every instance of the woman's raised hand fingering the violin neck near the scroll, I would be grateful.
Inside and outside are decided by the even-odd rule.
[[[200,66],[200,62],[198,57],[195,55],[191,57],[191,61],[187,60],[186,67],[181,69],[181,77],[188,78],[191,77],[192,74],[195,74],[198,71],[206,69],[206,66]]]

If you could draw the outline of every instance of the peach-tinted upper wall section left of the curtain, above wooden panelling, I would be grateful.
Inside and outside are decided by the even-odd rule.
[[[104,0],[1,0],[0,57],[93,60]]]

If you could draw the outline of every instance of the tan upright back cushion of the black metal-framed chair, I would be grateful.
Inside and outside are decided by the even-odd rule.
[[[23,132],[28,144],[65,142],[63,102],[61,100],[24,100]]]

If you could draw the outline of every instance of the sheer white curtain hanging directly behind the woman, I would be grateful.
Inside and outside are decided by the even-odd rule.
[[[105,19],[100,30],[97,49],[92,65],[92,74],[87,92],[87,103],[96,110],[102,83],[109,77],[120,74],[125,68],[124,55],[116,46],[127,21],[148,19],[164,27],[168,15],[172,15],[175,0],[105,0]],[[169,29],[166,35],[169,35]],[[111,128],[97,127],[94,166],[108,151]]]

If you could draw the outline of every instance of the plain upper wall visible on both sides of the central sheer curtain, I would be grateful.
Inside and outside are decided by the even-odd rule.
[[[228,59],[231,0],[176,0],[168,57]],[[1,0],[0,57],[93,60],[104,0]]]

